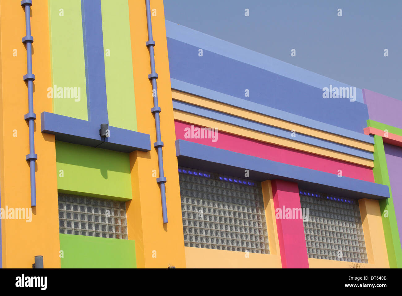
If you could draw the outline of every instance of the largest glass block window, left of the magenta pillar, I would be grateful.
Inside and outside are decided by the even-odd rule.
[[[185,246],[269,254],[261,183],[179,167]]]

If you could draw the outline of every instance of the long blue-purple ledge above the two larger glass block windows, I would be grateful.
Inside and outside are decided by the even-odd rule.
[[[320,172],[283,164],[251,155],[201,145],[184,140],[176,140],[178,165],[244,178],[244,170],[256,181],[285,180],[299,184],[306,190],[338,195],[351,199],[388,199],[386,185],[367,182],[336,174]]]

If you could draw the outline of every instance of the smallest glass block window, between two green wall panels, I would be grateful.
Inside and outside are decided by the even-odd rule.
[[[58,199],[60,233],[127,240],[125,202],[62,193]]]

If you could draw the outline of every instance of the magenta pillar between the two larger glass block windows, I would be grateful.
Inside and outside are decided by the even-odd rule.
[[[291,209],[292,213],[293,209],[300,209],[299,186],[282,180],[273,180],[271,183],[275,214],[280,215],[280,219],[276,216],[276,223],[282,268],[308,268],[303,218],[286,219],[283,213],[286,209]]]

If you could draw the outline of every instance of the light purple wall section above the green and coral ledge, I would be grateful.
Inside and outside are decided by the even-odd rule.
[[[402,128],[402,101],[363,89],[363,100],[367,104],[369,119]]]

